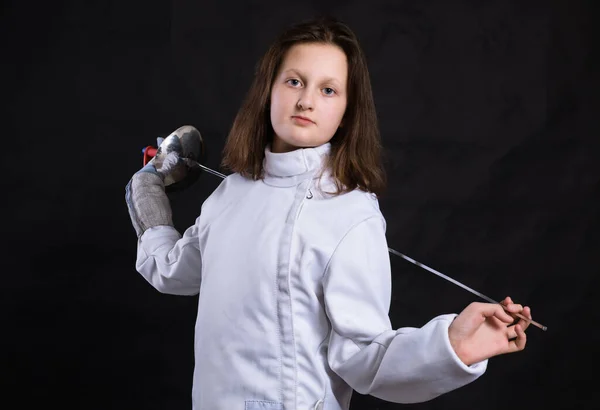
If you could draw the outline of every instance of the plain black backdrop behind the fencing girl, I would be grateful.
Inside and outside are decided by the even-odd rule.
[[[355,394],[352,408],[597,408],[597,12],[574,0],[3,4],[3,400],[19,404],[2,407],[190,408],[197,300],[136,273],[125,184],[141,148],[184,124],[218,167],[268,43],[329,13],[368,56],[390,246],[548,326],[462,389],[404,406]],[[218,183],[205,174],[171,196],[180,230]],[[396,327],[478,300],[392,267]]]

